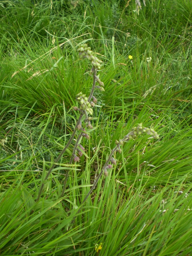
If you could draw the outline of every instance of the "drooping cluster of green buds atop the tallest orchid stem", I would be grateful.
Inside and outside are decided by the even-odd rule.
[[[79,52],[79,55],[82,58],[87,58],[88,60],[91,61],[92,66],[94,68],[100,69],[101,68],[101,63],[103,62],[102,60],[99,60],[96,56],[95,53],[91,51],[91,48],[87,46],[87,44],[81,44],[80,47],[77,50]]]

